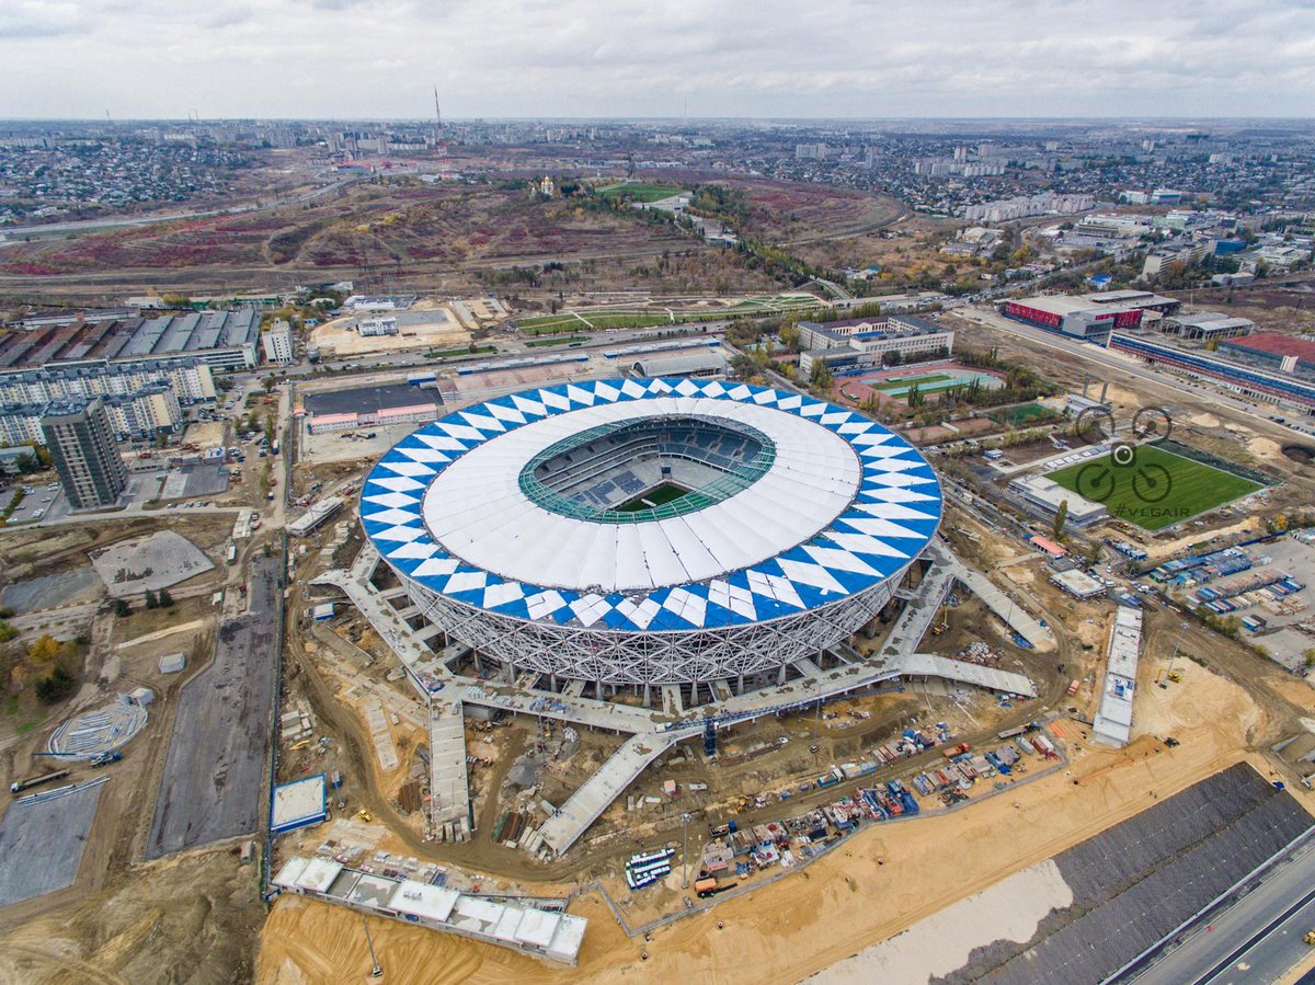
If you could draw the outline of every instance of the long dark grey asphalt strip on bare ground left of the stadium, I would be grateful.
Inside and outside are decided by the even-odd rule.
[[[220,623],[214,661],[179,697],[146,857],[255,832],[279,673],[277,560],[251,564],[249,612]]]

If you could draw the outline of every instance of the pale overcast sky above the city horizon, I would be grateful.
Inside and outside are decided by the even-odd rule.
[[[0,117],[1315,116],[1315,0],[0,0]]]

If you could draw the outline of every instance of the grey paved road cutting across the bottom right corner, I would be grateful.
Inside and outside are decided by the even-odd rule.
[[[1136,985],[1253,985],[1278,981],[1315,928],[1315,843],[1134,978]]]

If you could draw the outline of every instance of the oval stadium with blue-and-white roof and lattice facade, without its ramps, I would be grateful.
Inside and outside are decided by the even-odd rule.
[[[510,675],[785,680],[867,625],[936,533],[926,459],[835,405],[719,380],[562,384],[450,413],[367,477],[412,602]]]

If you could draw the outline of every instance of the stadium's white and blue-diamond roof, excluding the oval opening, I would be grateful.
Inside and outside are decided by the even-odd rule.
[[[550,513],[521,468],[600,422],[719,414],[777,446],[767,475],[698,513],[611,525]],[[798,393],[721,380],[600,380],[497,397],[401,441],[360,497],[366,534],[431,592],[518,619],[618,631],[761,622],[902,571],[935,535],[940,484],[886,427]]]

